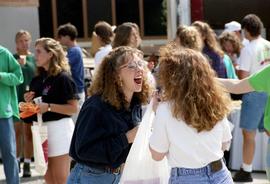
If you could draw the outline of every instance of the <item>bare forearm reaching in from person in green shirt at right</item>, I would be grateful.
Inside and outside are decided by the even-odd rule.
[[[220,79],[218,81],[228,90],[229,93],[242,94],[254,91],[248,82],[248,78],[237,79]]]

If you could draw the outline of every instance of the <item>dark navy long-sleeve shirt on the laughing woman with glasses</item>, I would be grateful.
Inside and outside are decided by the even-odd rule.
[[[116,110],[100,96],[90,97],[76,122],[70,156],[90,167],[119,167],[131,147],[125,134],[141,118],[141,105],[136,100],[132,100],[128,110]]]

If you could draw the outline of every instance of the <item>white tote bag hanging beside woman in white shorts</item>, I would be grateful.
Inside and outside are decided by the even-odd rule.
[[[36,102],[37,103],[37,102]],[[48,167],[48,129],[42,123],[42,115],[37,114],[38,122],[33,122],[31,126],[34,149],[35,170],[45,175]]]

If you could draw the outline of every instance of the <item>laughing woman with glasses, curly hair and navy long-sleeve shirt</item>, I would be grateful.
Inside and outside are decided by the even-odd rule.
[[[121,46],[102,61],[72,138],[68,183],[118,183],[150,96],[141,51]]]

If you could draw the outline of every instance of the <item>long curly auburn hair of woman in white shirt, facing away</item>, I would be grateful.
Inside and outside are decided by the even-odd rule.
[[[230,98],[200,52],[165,46],[159,67],[163,100],[171,105],[173,117],[201,132],[211,130],[228,114]]]

